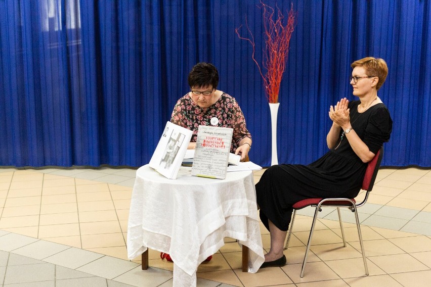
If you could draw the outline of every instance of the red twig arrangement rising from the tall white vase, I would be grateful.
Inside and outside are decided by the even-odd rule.
[[[259,73],[261,74],[265,84],[265,94],[268,98],[269,103],[278,103],[278,93],[280,90],[281,79],[283,78],[284,70],[286,69],[287,56],[289,53],[290,37],[292,36],[293,28],[295,26],[296,13],[293,11],[293,4],[287,15],[287,23],[283,25],[282,20],[284,19],[283,14],[277,7],[277,13],[275,10],[264,4],[261,1],[261,7],[263,9],[263,18],[265,26],[265,50],[262,61],[262,66],[267,70],[264,75],[262,73],[261,66],[254,59],[254,37],[248,27],[247,18],[245,18],[245,24],[250,37],[242,37],[239,34],[239,29],[242,25],[235,29],[238,37],[243,40],[250,42],[253,47],[253,54],[251,58],[256,63]]]

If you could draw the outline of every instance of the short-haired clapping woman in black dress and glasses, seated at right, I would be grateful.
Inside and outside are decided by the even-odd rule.
[[[330,106],[329,152],[310,165],[271,166],[256,184],[260,217],[271,235],[271,249],[261,268],[286,264],[284,240],[293,204],[307,198],[356,197],[367,163],[390,138],[392,119],[377,96],[387,76],[386,63],[367,57],[351,66],[350,84],[359,101],[344,98]]]

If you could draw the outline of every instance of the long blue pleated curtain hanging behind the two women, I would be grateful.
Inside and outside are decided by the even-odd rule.
[[[278,160],[326,151],[327,111],[354,100],[350,64],[374,56],[389,76],[378,95],[394,130],[383,165],[431,166],[429,1],[265,1],[297,24],[280,88]],[[0,165],[141,166],[149,162],[187,74],[219,69],[253,136],[250,158],[271,162],[271,123],[245,24],[262,59],[259,1],[0,0]],[[243,30],[245,32],[245,30]]]

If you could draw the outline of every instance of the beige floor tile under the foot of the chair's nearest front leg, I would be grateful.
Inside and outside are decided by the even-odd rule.
[[[303,264],[288,264],[281,267],[294,283],[325,281],[339,279],[340,277],[324,262],[308,262],[304,271],[304,278],[300,277]],[[274,269],[274,268],[268,268]]]

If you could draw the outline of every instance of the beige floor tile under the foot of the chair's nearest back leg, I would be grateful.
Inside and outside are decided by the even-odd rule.
[[[363,258],[343,259],[326,261],[326,264],[335,271],[341,278],[353,278],[367,276],[365,274]],[[382,269],[367,259],[368,272],[370,275],[385,274]]]

